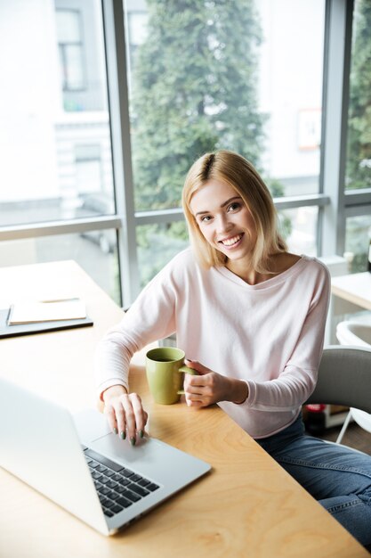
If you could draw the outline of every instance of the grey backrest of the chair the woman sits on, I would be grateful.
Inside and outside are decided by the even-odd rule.
[[[371,349],[344,345],[324,349],[319,380],[305,403],[351,406],[371,413]]]

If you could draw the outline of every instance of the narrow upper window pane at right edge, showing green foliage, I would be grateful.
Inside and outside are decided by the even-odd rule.
[[[355,0],[345,188],[371,187],[371,4]]]

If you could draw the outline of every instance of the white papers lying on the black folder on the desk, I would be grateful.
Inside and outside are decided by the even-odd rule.
[[[80,299],[18,302],[11,306],[8,325],[77,320],[85,317],[85,303]]]

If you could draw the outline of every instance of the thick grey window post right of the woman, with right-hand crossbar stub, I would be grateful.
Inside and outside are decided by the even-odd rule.
[[[343,255],[348,217],[371,214],[371,188],[345,191],[353,9],[353,0],[327,0],[320,185],[330,203],[318,239],[325,257]]]

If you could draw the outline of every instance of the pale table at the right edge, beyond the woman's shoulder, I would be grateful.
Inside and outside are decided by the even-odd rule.
[[[333,277],[331,291],[336,297],[371,310],[371,273],[367,271]]]

